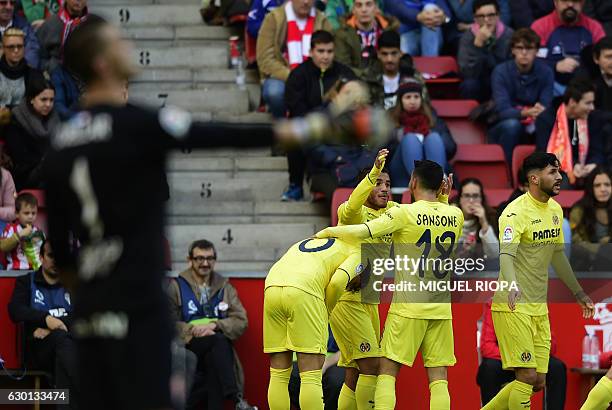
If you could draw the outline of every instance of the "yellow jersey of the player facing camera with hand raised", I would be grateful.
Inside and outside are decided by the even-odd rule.
[[[398,205],[397,202],[387,202],[386,208],[372,209],[364,205],[366,199],[372,192],[372,189],[376,186],[376,181],[372,182],[369,176],[366,176],[357,187],[351,193],[349,200],[343,202],[338,207],[338,225],[358,225],[365,222],[369,222],[373,219],[378,218],[384,214],[388,209]],[[380,238],[369,238],[365,240],[366,243],[391,243],[391,234],[385,235]],[[382,249],[381,249],[382,251]],[[388,255],[389,253],[386,252]],[[349,292],[346,291],[340,298],[340,300],[350,300],[354,302],[362,302],[361,292]]]

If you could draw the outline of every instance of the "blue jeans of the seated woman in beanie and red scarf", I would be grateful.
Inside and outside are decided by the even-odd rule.
[[[414,161],[422,159],[437,162],[446,169],[446,151],[440,134],[431,132],[423,142],[415,134],[404,135],[389,166],[391,185],[407,187],[414,170]]]

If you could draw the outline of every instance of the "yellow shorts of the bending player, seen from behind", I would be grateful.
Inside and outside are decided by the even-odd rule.
[[[272,286],[264,293],[264,353],[327,353],[325,302],[301,289]]]

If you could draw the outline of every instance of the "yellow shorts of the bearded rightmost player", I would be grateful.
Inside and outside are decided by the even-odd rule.
[[[535,368],[548,372],[550,322],[548,315],[531,316],[518,312],[491,312],[502,357],[502,367]]]

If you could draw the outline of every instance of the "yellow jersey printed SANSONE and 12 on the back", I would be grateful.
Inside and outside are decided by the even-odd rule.
[[[389,312],[414,319],[451,319],[450,293],[436,285],[450,277],[440,262],[452,259],[457,247],[463,229],[461,210],[421,200],[396,205],[366,226],[372,238],[393,234],[391,256],[401,265],[395,265],[395,285],[406,287],[394,292]]]

